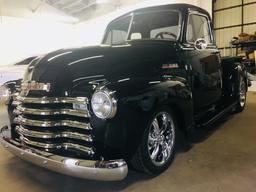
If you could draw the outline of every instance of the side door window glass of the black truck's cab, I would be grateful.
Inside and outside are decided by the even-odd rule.
[[[186,39],[188,42],[192,43],[197,39],[204,39],[208,44],[212,44],[208,18],[196,14],[190,15],[188,19]]]

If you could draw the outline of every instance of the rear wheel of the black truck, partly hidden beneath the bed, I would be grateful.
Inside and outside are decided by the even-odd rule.
[[[246,105],[246,92],[247,92],[247,83],[246,80],[240,75],[237,91],[235,94],[237,105],[235,106],[233,113],[240,113],[244,110]]]

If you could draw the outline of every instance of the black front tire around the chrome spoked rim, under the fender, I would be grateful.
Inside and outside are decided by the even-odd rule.
[[[169,122],[168,124],[169,124],[169,127],[172,127],[172,128],[170,128],[170,130],[172,130],[171,134],[170,134],[170,135],[172,135],[172,137],[169,135],[169,132],[167,133],[167,131],[166,131],[166,134],[168,136],[170,136],[170,139],[172,138],[173,140],[172,140],[172,142],[169,142],[169,146],[171,146],[171,150],[170,150],[170,154],[169,154],[168,158],[166,158],[164,163],[157,164],[156,161],[160,160],[161,156],[164,157],[163,154],[162,155],[160,154],[160,152],[163,153],[164,146],[160,146],[160,144],[159,144],[159,147],[158,147],[159,151],[156,154],[159,156],[157,156],[156,160],[153,160],[152,156],[151,156],[153,154],[153,152],[150,155],[151,152],[149,149],[150,148],[149,146],[151,145],[150,141],[149,141],[150,140],[149,134],[152,133],[152,129],[154,128],[153,122],[155,122],[154,120],[156,119],[156,117],[158,117],[159,115],[167,115],[167,114],[169,115],[168,118],[171,119],[171,122],[169,122],[169,120],[168,120],[168,122]],[[159,117],[159,119],[160,119],[160,117]],[[162,121],[164,122],[164,120],[162,120]],[[158,124],[160,124],[160,123],[158,122]],[[131,159],[131,164],[132,164],[133,168],[136,169],[137,171],[141,171],[141,172],[147,173],[149,175],[158,175],[158,174],[162,173],[163,171],[165,171],[170,166],[170,164],[172,163],[172,161],[174,159],[175,150],[176,150],[177,123],[175,121],[175,118],[174,118],[172,112],[168,108],[163,107],[163,108],[159,108],[158,110],[156,110],[156,112],[148,118],[148,122],[146,123],[146,125],[147,125],[147,127],[143,133],[142,141],[139,144],[139,147],[138,147],[136,153],[133,155],[133,157]],[[162,125],[164,125],[164,124],[162,124]],[[161,125],[161,128],[163,128],[162,125]],[[154,128],[154,130],[155,130],[155,128]],[[169,130],[169,128],[165,128],[165,130]],[[152,135],[153,134],[151,134],[151,136]],[[153,137],[151,137],[151,138],[153,138]],[[164,138],[166,140],[168,140],[167,136]],[[158,142],[158,141],[154,141],[154,142]],[[168,146],[167,141],[165,142],[165,146]],[[153,146],[152,146],[152,148],[153,148]]]

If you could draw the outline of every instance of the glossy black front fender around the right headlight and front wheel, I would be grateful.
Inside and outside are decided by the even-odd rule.
[[[89,106],[96,148],[105,158],[129,159],[141,141],[150,115],[160,106],[173,111],[182,130],[193,125],[192,92],[182,78],[123,78],[95,81],[95,85],[91,82],[76,85],[73,93],[91,98],[96,87],[105,86],[115,92],[117,99],[117,114],[112,119],[97,118]]]

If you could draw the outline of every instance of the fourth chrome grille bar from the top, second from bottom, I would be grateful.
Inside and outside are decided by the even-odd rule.
[[[39,132],[39,131],[31,131],[22,126],[17,126],[15,130],[20,135],[24,135],[26,137],[40,138],[40,139],[71,138],[71,139],[78,139],[86,142],[93,141],[90,135],[68,132],[68,131],[57,132],[57,133]]]

